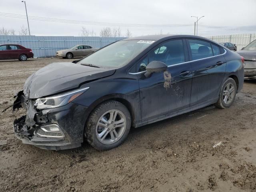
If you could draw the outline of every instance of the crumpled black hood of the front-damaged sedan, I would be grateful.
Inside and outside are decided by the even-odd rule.
[[[72,62],[52,63],[32,74],[26,80],[23,92],[26,98],[40,98],[78,88],[82,83],[111,76],[115,71]]]

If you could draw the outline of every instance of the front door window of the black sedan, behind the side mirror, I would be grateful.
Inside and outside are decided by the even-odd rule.
[[[139,60],[137,71],[145,71],[148,63],[152,61],[164,62],[167,66],[185,62],[182,40],[170,40],[156,46],[153,50],[148,52],[147,56]]]

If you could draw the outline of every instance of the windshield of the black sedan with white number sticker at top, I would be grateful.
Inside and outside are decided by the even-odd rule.
[[[149,40],[118,41],[87,56],[78,64],[90,64],[102,68],[118,68],[130,62],[153,42]]]

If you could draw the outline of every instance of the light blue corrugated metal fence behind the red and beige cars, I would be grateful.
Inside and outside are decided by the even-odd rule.
[[[124,38],[0,35],[0,44],[20,44],[32,49],[34,57],[52,57],[55,56],[57,50],[71,48],[77,44],[102,48]]]

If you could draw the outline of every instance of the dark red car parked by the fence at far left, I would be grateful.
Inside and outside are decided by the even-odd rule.
[[[4,44],[0,45],[0,60],[2,59],[18,59],[20,61],[26,61],[28,58],[32,58],[34,53],[31,49],[27,49],[21,45],[16,44]]]

